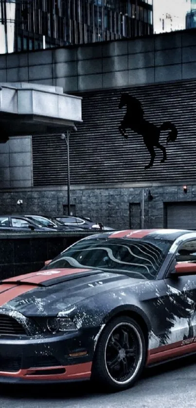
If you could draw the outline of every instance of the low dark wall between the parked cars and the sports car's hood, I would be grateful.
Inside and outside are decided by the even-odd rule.
[[[82,233],[81,233],[82,232]],[[87,232],[18,232],[0,234],[0,279],[40,270]]]

